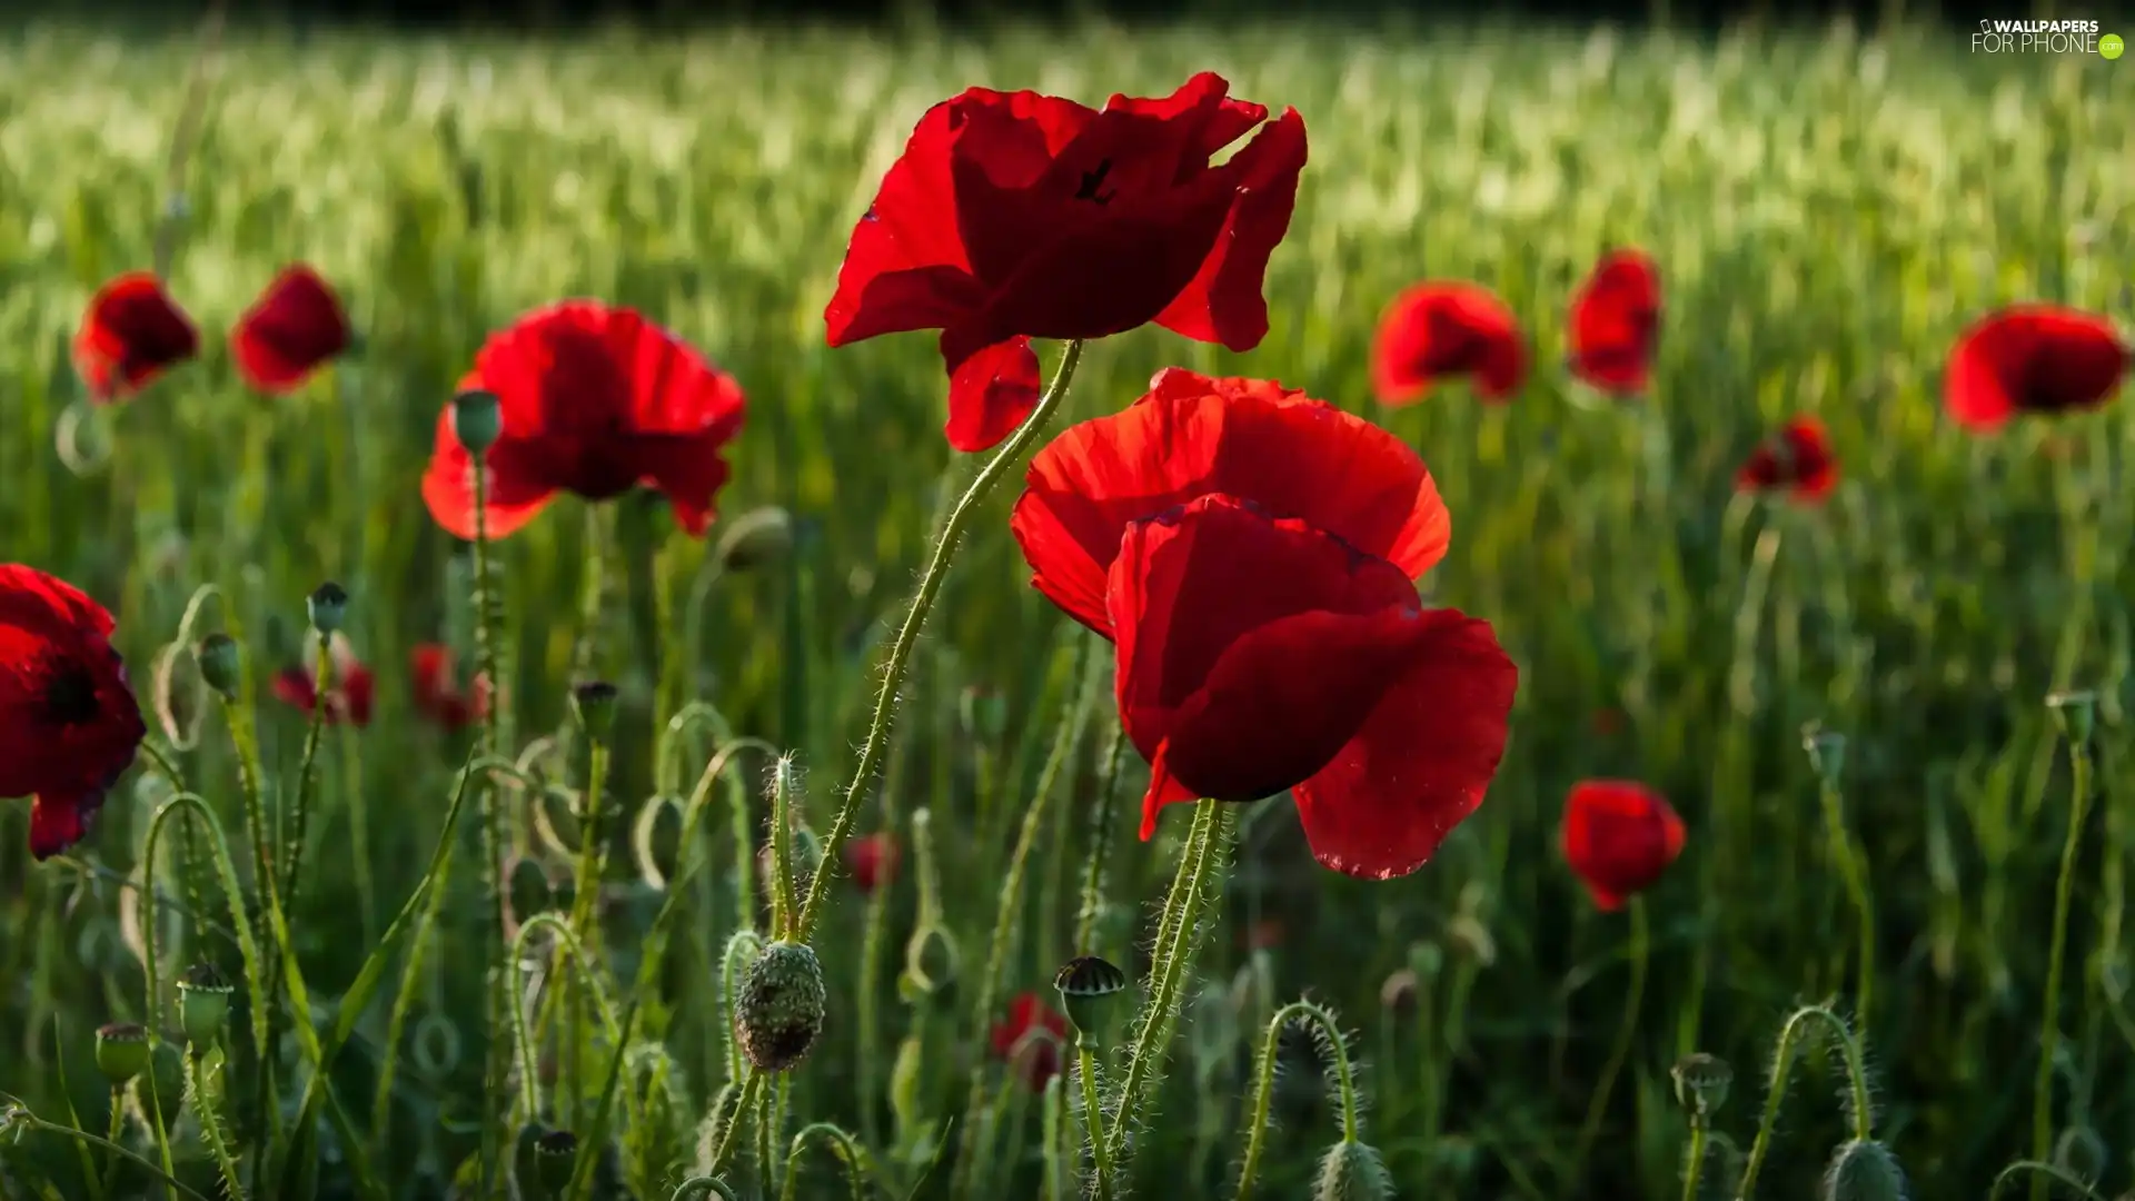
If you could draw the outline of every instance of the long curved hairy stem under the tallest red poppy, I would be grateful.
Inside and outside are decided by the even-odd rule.
[[[1008,436],[1008,442],[986,459],[986,466],[965,489],[963,498],[950,511],[948,521],[942,526],[942,541],[935,545],[933,558],[927,562],[927,575],[920,577],[920,590],[912,598],[912,609],[905,613],[905,624],[897,628],[897,641],[890,643],[890,660],[882,669],[882,690],[875,695],[875,716],[867,724],[867,742],[860,744],[860,761],[852,769],[852,784],[845,786],[845,799],[837,810],[837,818],[831,823],[831,833],[822,842],[824,868],[816,872],[809,880],[807,900],[801,904],[801,917],[794,921],[794,942],[807,942],[809,932],[816,927],[816,915],[822,910],[824,900],[831,891],[831,868],[839,861],[839,853],[845,851],[845,838],[852,836],[852,823],[860,816],[860,801],[867,799],[867,789],[875,782],[875,771],[882,769],[882,754],[890,744],[890,712],[897,707],[897,695],[905,684],[905,671],[912,667],[912,652],[920,641],[920,626],[927,624],[927,613],[933,609],[935,596],[942,594],[942,583],[948,579],[948,564],[956,556],[956,545],[963,541],[965,526],[971,524],[971,515],[986,496],[1008,477],[1012,464],[1023,457],[1023,451],[1044,434],[1044,427],[1053,421],[1061,402],[1068,400],[1068,385],[1074,383],[1074,368],[1082,359],[1082,342],[1068,342],[1065,353],[1061,353],[1061,365],[1053,372],[1053,383],[1046,393],[1038,397],[1038,408]]]

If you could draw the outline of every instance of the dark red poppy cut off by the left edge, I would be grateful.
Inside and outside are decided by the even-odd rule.
[[[73,586],[0,564],[0,797],[32,797],[36,859],[81,842],[147,735],[113,628]]]

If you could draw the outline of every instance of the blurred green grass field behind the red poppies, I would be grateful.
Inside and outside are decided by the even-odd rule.
[[[1270,1015],[1309,996],[1347,1034],[1358,1135],[1401,1197],[1680,1197],[1691,1122],[1670,1069],[1691,1051],[1734,1069],[1699,1192],[1736,1197],[1770,1116],[1774,1041],[1804,1004],[1860,1019],[1872,1113],[1853,1113],[1828,1030],[1800,1024],[1757,1197],[1810,1195],[1862,1130],[1902,1160],[1915,1197],[1986,1197],[2035,1152],[2071,814],[2067,744],[2043,705],[2056,688],[2097,688],[2101,731],[2050,1133],[2062,1167],[2094,1180],[2090,1197],[2135,1188],[2135,759],[2122,714],[2135,509],[2118,487],[2135,425],[2107,410],[1981,440],[1939,402],[1951,340],[1988,308],[2060,299],[2135,316],[2129,62],[1975,58],[1960,32],[1691,43],[1315,26],[978,41],[758,30],[515,45],[233,30],[184,167],[171,271],[203,361],[81,421],[68,340],[100,280],[152,261],[194,56],[190,34],[0,41],[0,560],[53,571],[117,613],[143,709],[167,697],[152,742],[222,816],[243,880],[239,757],[184,650],[218,628],[246,643],[269,808],[282,808],[299,789],[307,720],[265,677],[299,662],[314,586],[352,594],[348,637],[378,669],[380,714],[327,731],[312,865],[288,915],[312,1021],[352,1021],[331,1073],[346,1124],[307,1122],[320,1130],[320,1197],[442,1195],[483,1124],[506,1118],[483,1090],[472,821],[429,893],[438,904],[416,906],[418,930],[380,960],[361,1009],[344,1004],[425,878],[468,752],[470,735],[410,714],[406,665],[423,641],[472,652],[470,564],[425,513],[418,479],[483,336],[566,295],[643,308],[749,393],[713,541],[754,506],[796,517],[790,556],[717,579],[713,541],[675,532],[664,506],[613,506],[604,543],[611,588],[589,645],[621,688],[608,797],[626,814],[615,825],[634,825],[613,844],[604,970],[632,1036],[596,1195],[664,1199],[698,1171],[698,1124],[732,1083],[722,957],[741,919],[762,930],[732,804],[752,806],[745,831],[762,821],[769,761],[752,757],[726,778],[732,791],[713,793],[687,848],[705,868],[679,885],[658,987],[638,992],[630,981],[683,851],[675,810],[647,806],[687,795],[717,739],[752,735],[796,754],[807,825],[828,831],[886,635],[944,500],[978,470],[942,442],[931,338],[824,348],[852,222],[920,111],[969,83],[1100,103],[1166,94],[1200,68],[1240,96],[1296,105],[1311,132],[1296,220],[1268,269],[1272,333],[1251,355],[1157,329],[1097,342],[1068,419],[1121,408],[1164,365],[1281,378],[1369,412],[1422,451],[1454,515],[1428,596],[1494,622],[1522,688],[1490,799],[1409,878],[1317,868],[1285,799],[1243,816],[1170,1073],[1144,1109],[1136,1192],[1232,1195],[1253,1058]],[[1646,248],[1665,274],[1650,404],[1584,402],[1556,368],[1569,291],[1618,244]],[[260,400],[222,338],[297,259],[342,291],[363,346],[301,395]],[[1460,393],[1401,410],[1371,402],[1375,318],[1430,276],[1494,286],[1527,325],[1539,370],[1509,408]],[[1736,498],[1736,464],[1796,412],[1828,423],[1840,492],[1817,511]],[[929,814],[954,983],[899,992],[927,874],[910,853],[897,887],[871,900],[837,883],[813,938],[828,1019],[779,1092],[784,1128],[741,1137],[726,1175],[743,1197],[760,1186],[754,1130],[784,1165],[809,1122],[850,1130],[888,1197],[1076,1192],[1074,1077],[1050,1101],[1027,1092],[991,1058],[989,1028],[1018,992],[1057,1007],[1053,972],[1085,949],[1072,947],[1076,898],[1112,709],[1100,701],[1087,731],[1057,716],[1091,639],[1027,588],[1010,502],[1012,487],[986,502],[954,562],[907,677],[888,784],[858,825],[895,829],[910,851],[916,814]],[[510,750],[551,739],[559,786],[585,778],[566,686],[587,628],[585,539],[581,504],[566,500],[497,543],[517,665]],[[974,703],[989,688],[1006,718]],[[655,739],[683,701],[719,720]],[[1800,733],[1813,720],[1847,737],[1840,795],[1819,795]],[[1078,742],[1061,742],[1063,729]],[[1132,806],[1138,757],[1125,774]],[[1635,1036],[1580,1163],[1629,1000],[1631,923],[1595,913],[1563,865],[1556,821],[1576,780],[1610,776],[1665,793],[1689,842],[1644,898]],[[19,1135],[0,1139],[9,1199],[98,1195],[85,1167],[102,1173],[105,1152],[43,1124],[105,1133],[94,1030],[149,1021],[135,889],[169,795],[160,776],[128,776],[92,838],[41,865],[17,851],[28,806],[0,806],[0,1090],[36,1116],[0,1122]],[[1110,872],[1087,949],[1138,977],[1187,823],[1172,814],[1140,844],[1125,806],[1102,829]],[[549,812],[517,823],[519,915],[570,904],[572,823],[562,804]],[[1866,857],[1875,904],[1866,1013],[1834,812]],[[169,1036],[179,970],[213,960],[237,979],[246,966],[205,859],[175,836],[162,848],[156,887],[177,908],[158,923],[154,1017]],[[752,913],[737,915],[737,893],[752,891]],[[267,919],[252,917],[271,955]],[[939,947],[929,962],[939,968]],[[1383,1007],[1381,985],[1401,970],[1418,974],[1413,1004]],[[246,992],[211,1126],[250,1195],[280,1197],[282,1177],[254,1175],[246,1139],[260,1126]],[[585,1094],[544,1120],[581,1135],[617,1062],[596,1028],[540,1051],[559,1098]],[[1279,1047],[1255,1195],[1300,1197],[1341,1139],[1341,1090],[1315,1083],[1326,1039]],[[162,1054],[162,1083],[145,1096],[171,1118],[177,1175],[211,1195],[209,1139],[192,1098],[171,1113],[177,1051]],[[278,1126],[297,1124],[307,1062],[286,1034]],[[837,1197],[837,1156],[813,1139],[796,1195]],[[139,1120],[122,1143],[160,1158]],[[935,1143],[946,1152],[929,1173]],[[122,1165],[111,1197],[154,1188]],[[2030,1188],[2018,1177],[2005,1195]],[[1840,1192],[1870,1199],[1883,1195]]]

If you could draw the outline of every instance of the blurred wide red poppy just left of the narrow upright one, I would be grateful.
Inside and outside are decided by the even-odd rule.
[[[1383,404],[1422,400],[1439,380],[1473,380],[1503,404],[1527,380],[1520,321],[1490,288],[1424,282],[1394,297],[1371,346],[1371,385]]]

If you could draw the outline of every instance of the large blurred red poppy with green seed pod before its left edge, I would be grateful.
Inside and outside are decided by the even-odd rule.
[[[741,432],[741,385],[638,312],[598,301],[536,310],[483,344],[459,389],[495,393],[504,415],[485,455],[491,539],[532,521],[557,492],[608,500],[640,483],[668,498],[692,536],[711,526],[728,477],[719,451]],[[474,536],[472,468],[446,406],[423,502],[459,539]]]

